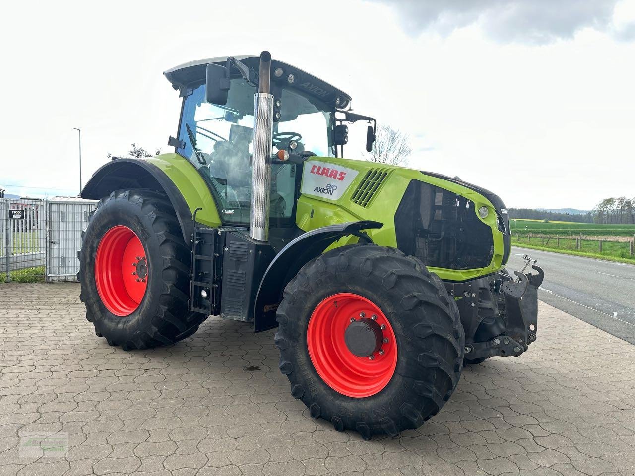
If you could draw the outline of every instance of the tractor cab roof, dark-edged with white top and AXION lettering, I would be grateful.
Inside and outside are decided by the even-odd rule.
[[[182,65],[166,70],[163,74],[170,81],[174,89],[187,88],[190,85],[201,83],[205,80],[207,65],[216,63],[224,66],[229,56],[217,56],[216,58],[205,58],[203,60],[190,61]],[[258,55],[236,55],[237,60],[243,62],[251,69],[258,72],[260,56]],[[276,76],[276,71],[280,69],[282,73]],[[293,83],[288,82],[288,77],[293,74]],[[285,88],[294,88],[305,94],[321,100],[334,109],[346,109],[351,103],[351,96],[341,89],[335,88],[331,84],[322,81],[318,77],[291,66],[287,63],[271,60],[271,82],[277,83]]]

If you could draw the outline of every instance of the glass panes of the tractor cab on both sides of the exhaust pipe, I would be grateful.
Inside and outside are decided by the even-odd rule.
[[[205,100],[201,84],[185,98],[177,149],[211,185],[223,221],[249,223],[251,195],[251,141],[253,95],[256,88],[244,79],[232,79],[227,104]],[[283,89],[281,117],[274,122],[274,150],[300,154],[332,155],[329,147],[330,113],[318,109],[304,96]],[[290,140],[297,148],[289,149]],[[296,167],[273,164],[270,216],[288,218],[295,205]]]

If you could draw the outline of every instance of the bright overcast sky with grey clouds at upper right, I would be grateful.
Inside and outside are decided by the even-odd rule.
[[[509,207],[635,195],[635,0],[11,2],[3,20],[10,193],[77,194],[74,127],[84,183],[131,142],[170,151],[180,100],[162,72],[267,49],[408,133],[413,168]]]

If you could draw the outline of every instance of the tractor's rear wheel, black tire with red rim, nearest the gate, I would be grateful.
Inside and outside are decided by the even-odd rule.
[[[161,194],[125,190],[100,200],[77,256],[86,319],[110,345],[171,344],[208,317],[187,310],[190,251]]]

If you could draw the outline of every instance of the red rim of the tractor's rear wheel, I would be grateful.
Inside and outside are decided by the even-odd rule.
[[[148,264],[144,245],[130,228],[110,228],[97,247],[95,283],[104,306],[119,317],[130,315],[144,298]]]

